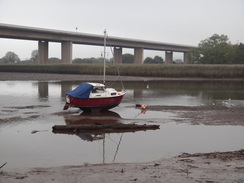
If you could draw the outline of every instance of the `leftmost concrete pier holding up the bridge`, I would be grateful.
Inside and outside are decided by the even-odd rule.
[[[38,63],[39,64],[48,63],[48,42],[47,41],[38,42]]]

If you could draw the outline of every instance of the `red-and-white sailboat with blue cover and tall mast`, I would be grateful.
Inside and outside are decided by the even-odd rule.
[[[77,107],[83,111],[108,110],[118,106],[125,91],[117,91],[114,88],[106,88],[106,39],[107,32],[104,31],[104,63],[103,63],[103,83],[86,82],[81,83],[74,90],[66,93],[66,103],[63,110],[69,107]]]

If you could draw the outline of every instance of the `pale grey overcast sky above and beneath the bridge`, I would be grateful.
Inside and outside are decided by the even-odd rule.
[[[244,43],[244,0],[0,0],[0,23],[197,46],[213,34]],[[30,58],[35,41],[0,38],[0,58]],[[77,46],[73,58],[99,57],[102,48]],[[124,50],[123,54],[132,50]],[[133,52],[132,52],[133,53]],[[49,57],[61,57],[50,43]],[[163,52],[145,56],[160,55]]]

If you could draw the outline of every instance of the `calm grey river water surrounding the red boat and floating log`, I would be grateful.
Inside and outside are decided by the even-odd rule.
[[[65,93],[79,82],[0,81],[0,165],[53,167],[95,163],[148,162],[185,153],[244,148],[243,125],[192,125],[168,111],[141,113],[136,103],[163,106],[244,106],[244,82],[125,82],[122,103],[101,114],[63,111]],[[119,88],[119,83],[113,87]],[[158,124],[135,133],[53,133],[54,125],[82,120]]]

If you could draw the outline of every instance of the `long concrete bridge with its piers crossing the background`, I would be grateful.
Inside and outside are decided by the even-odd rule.
[[[61,43],[62,63],[72,63],[72,45],[85,44],[103,46],[102,35],[85,34],[53,29],[34,28],[10,24],[0,24],[0,38],[23,39],[38,41],[39,63],[45,64],[48,61],[48,43]],[[187,53],[192,46],[169,44],[162,42],[144,41],[137,39],[109,37],[110,46],[114,47],[114,59],[122,63],[122,48],[134,49],[134,63],[143,63],[144,50],[165,51],[166,63],[172,63],[173,52],[184,53],[184,63],[187,63]]]

